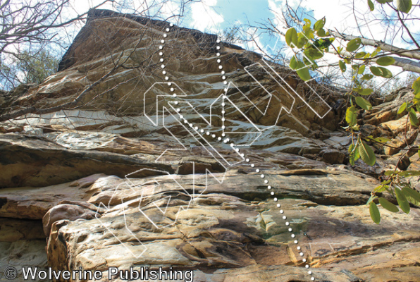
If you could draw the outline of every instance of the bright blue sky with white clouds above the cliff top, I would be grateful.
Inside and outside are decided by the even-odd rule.
[[[78,13],[87,11],[87,9],[94,4],[98,4],[103,0],[73,0],[73,7]],[[181,0],[116,0],[116,2],[124,2],[126,9],[123,12],[132,13],[136,11],[145,11],[149,7],[154,7],[155,10],[148,9],[149,14],[144,16],[155,16],[155,11],[159,10],[159,18],[171,18],[174,14],[180,11]],[[247,23],[250,25],[257,25],[257,23],[267,22],[268,18],[271,23],[285,32],[287,29],[282,21],[282,12],[285,11],[286,0],[202,0],[199,2],[192,2],[185,6],[185,16],[183,18],[171,18],[171,22],[176,25],[183,27],[190,27],[203,32],[209,32],[214,34],[221,34],[223,30],[234,25],[242,25],[242,29],[245,30],[244,34],[259,34],[261,29],[254,30],[247,27]],[[419,5],[420,0],[412,0],[414,5]],[[386,22],[377,20],[378,13],[383,9],[388,15],[394,13],[387,5],[378,4],[377,1],[373,1],[375,4],[375,11],[369,11],[367,0],[288,0],[288,4],[294,8],[300,7],[306,11],[306,16],[312,23],[315,20],[319,20],[326,17],[326,27],[333,30],[339,30],[350,35],[363,35],[371,39],[382,40],[394,44],[397,47],[412,48],[401,38],[401,30],[395,33],[395,36],[391,36],[393,32],[390,32],[390,28],[384,24]],[[111,8],[116,10],[116,6],[108,4],[103,8]],[[412,14],[409,15],[411,18],[420,18],[420,8],[416,7],[412,9]],[[407,22],[407,26],[413,32],[414,36],[420,38],[420,25],[416,24],[416,21]],[[387,30],[388,29],[388,30]],[[405,39],[409,39],[407,36]],[[276,44],[276,42],[278,42]],[[271,48],[276,44],[276,50],[284,46],[285,40],[283,36],[276,35],[276,37],[259,36],[255,39],[255,42],[249,42],[248,44],[241,44],[241,42],[233,42],[238,44],[245,49],[252,51],[259,51],[257,44],[263,51],[270,53]],[[336,40],[334,42],[337,47],[340,42]],[[342,42],[342,46],[345,47],[347,42]],[[372,51],[372,50],[366,50]],[[289,53],[288,53],[289,52]],[[292,52],[290,49],[281,50],[280,54],[284,54],[286,58],[290,58]],[[331,64],[337,64],[338,59],[333,54],[326,54],[324,57],[325,66],[331,66]],[[319,65],[321,66],[322,63]],[[395,67],[393,73],[399,73],[400,68]]]

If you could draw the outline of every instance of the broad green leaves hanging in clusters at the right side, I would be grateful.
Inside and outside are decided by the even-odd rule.
[[[378,4],[386,4],[394,0],[376,0]],[[369,9],[374,10],[375,4],[373,1],[367,0]],[[402,13],[409,13],[412,9],[411,0],[395,0],[395,6],[398,11]],[[316,21],[311,25],[311,20],[304,19],[302,24],[302,31],[297,32],[295,27],[291,27],[285,33],[285,41],[289,47],[293,49],[295,55],[290,59],[290,68],[297,72],[302,80],[307,81],[311,79],[310,71],[316,70],[318,65],[316,60],[323,58],[324,54],[329,52],[335,37],[324,29],[326,18]],[[335,47],[333,47],[335,49]],[[295,51],[295,50],[298,51]],[[393,73],[386,68],[393,65],[395,59],[391,56],[386,56],[381,52],[381,48],[377,47],[371,53],[363,51],[364,45],[361,38],[354,38],[347,42],[347,46],[337,47],[334,51],[340,57],[338,66],[342,73],[347,69],[352,72],[352,87],[347,95],[349,97],[350,106],[346,111],[345,120],[347,126],[344,127],[352,135],[352,145],[349,147],[350,164],[354,165],[355,161],[362,159],[369,166],[376,164],[376,156],[373,149],[366,142],[385,143],[389,140],[385,138],[373,138],[372,136],[363,136],[359,132],[359,125],[357,124],[357,111],[359,108],[364,110],[372,109],[371,103],[364,98],[372,94],[373,89],[364,87],[364,82],[371,80],[374,77],[381,77],[385,79],[393,78]],[[375,63],[376,66],[372,66]],[[414,92],[414,99],[411,102],[406,102],[400,107],[398,114],[408,114],[409,122],[414,127],[419,127],[420,122],[416,117],[416,113],[420,112],[420,78],[414,80],[412,84]],[[358,108],[359,106],[359,108]],[[418,154],[420,156],[420,147]],[[371,219],[375,223],[381,221],[381,214],[378,209],[378,204],[390,212],[399,212],[401,209],[405,213],[409,213],[409,202],[420,205],[420,193],[412,189],[410,184],[404,182],[404,178],[410,176],[420,176],[420,171],[387,171],[385,173],[385,180],[375,188],[367,205]],[[396,198],[397,205],[382,197],[383,192],[389,192]],[[377,204],[378,203],[378,204]]]

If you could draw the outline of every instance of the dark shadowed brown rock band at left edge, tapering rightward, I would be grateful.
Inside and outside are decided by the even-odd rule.
[[[142,168],[173,172],[171,166],[110,152],[73,150],[44,137],[0,135],[0,187],[42,187],[94,173],[124,177]],[[148,170],[150,176],[159,174]]]

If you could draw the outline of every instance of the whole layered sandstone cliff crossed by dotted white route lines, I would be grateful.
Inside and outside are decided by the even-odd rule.
[[[350,166],[338,90],[214,35],[111,11],[91,11],[58,73],[21,88],[1,99],[1,114],[37,109],[0,123],[1,270],[420,277],[420,210],[383,210],[376,225],[364,206],[419,143],[396,115],[409,92],[360,114],[361,130],[399,149]]]

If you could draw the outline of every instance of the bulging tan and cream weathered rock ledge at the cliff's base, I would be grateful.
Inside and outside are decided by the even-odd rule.
[[[310,264],[337,271],[331,274],[334,278],[330,276],[330,280],[326,281],[340,281],[344,279],[342,277],[346,277],[342,281],[357,281],[376,276],[381,269],[388,271],[390,265],[394,268],[402,265],[413,267],[413,274],[419,273],[415,270],[419,260],[416,258],[418,250],[411,249],[415,245],[409,243],[420,238],[418,210],[409,215],[383,211],[383,226],[377,226],[371,223],[368,209],[352,206],[357,199],[361,203],[366,202],[368,195],[364,193],[369,193],[369,189],[375,184],[374,180],[364,180],[352,173],[335,170],[327,174],[315,174],[316,171],[288,172],[285,176],[268,174],[270,183],[277,188],[276,195],[285,197],[276,202],[266,200],[269,197],[268,191],[266,188],[259,189],[257,183],[260,179],[255,174],[246,177],[228,175],[222,185],[210,184],[204,194],[192,201],[189,207],[190,196],[180,190],[173,190],[173,186],[168,183],[172,179],[167,176],[158,177],[165,178],[161,179],[161,188],[150,188],[146,194],[141,194],[142,199],[139,196],[141,192],[145,192],[144,188],[136,190],[137,199],[133,192],[125,192],[133,189],[130,185],[118,185],[121,189],[118,191],[106,189],[89,200],[94,204],[109,204],[107,210],[98,213],[100,217],[98,215],[97,219],[57,221],[53,224],[48,245],[49,262],[54,262],[52,265],[56,269],[82,266],[83,269],[101,271],[106,271],[109,266],[128,269],[132,264],[202,271],[210,265],[216,269],[247,265],[299,266],[304,264],[300,251],[297,250],[299,246],[302,252],[309,255]],[[288,179],[288,188],[282,189],[280,183],[290,177],[295,177],[295,180]],[[178,178],[178,182],[185,180],[185,176]],[[142,183],[150,183],[149,180],[135,180],[132,183],[135,185],[134,189],[146,187]],[[185,182],[190,183],[188,180]],[[240,189],[245,186],[242,182],[249,183],[246,187],[254,190]],[[237,188],[233,187],[233,183],[237,183]],[[353,184],[359,191],[354,190]],[[329,189],[334,186],[338,189],[336,192]],[[292,192],[299,193],[299,189],[305,193],[305,188],[314,195],[291,195]],[[331,202],[338,202],[342,206],[297,200],[299,197],[314,197],[316,201],[317,189],[319,195],[323,194],[327,199],[328,195],[336,197]],[[339,197],[340,192],[343,196]],[[345,196],[346,193],[349,193],[348,197]],[[161,209],[166,207],[162,214],[154,204],[159,204],[159,199],[166,195],[173,195],[173,198],[168,207],[165,201],[160,202]],[[321,198],[319,201],[326,200]],[[286,219],[278,212],[277,204],[287,214]],[[286,221],[290,222],[287,226]],[[402,221],[407,222],[403,227]],[[292,228],[293,232],[288,231],[288,228]],[[291,234],[299,235],[299,244],[293,242]],[[101,241],[101,246],[97,244],[98,241]],[[400,249],[396,246],[400,246]],[[381,252],[378,252],[378,248]],[[404,257],[400,251],[410,252],[412,258]],[[389,262],[383,259],[384,253],[397,254],[397,257]],[[366,266],[361,265],[358,268],[354,262],[352,267],[342,269],[351,269],[353,273],[361,274],[360,276],[340,274],[340,264],[348,263],[353,256],[356,260],[361,254],[366,255],[366,262],[370,259],[370,265],[374,266],[366,269]],[[282,276],[290,275],[288,271],[283,273],[281,269],[273,271]],[[200,272],[196,273],[200,277]],[[236,273],[247,277],[246,269],[237,269]],[[290,276],[290,281],[296,281],[293,279],[297,278],[302,279],[298,281],[310,281],[309,277],[300,278],[294,275],[296,274]],[[328,277],[328,274],[317,275],[314,271],[314,276],[319,281],[323,281],[323,275]],[[218,281],[223,276],[213,274],[206,277]],[[380,278],[375,279],[373,281],[381,281]],[[273,278],[268,281],[278,280]]]

